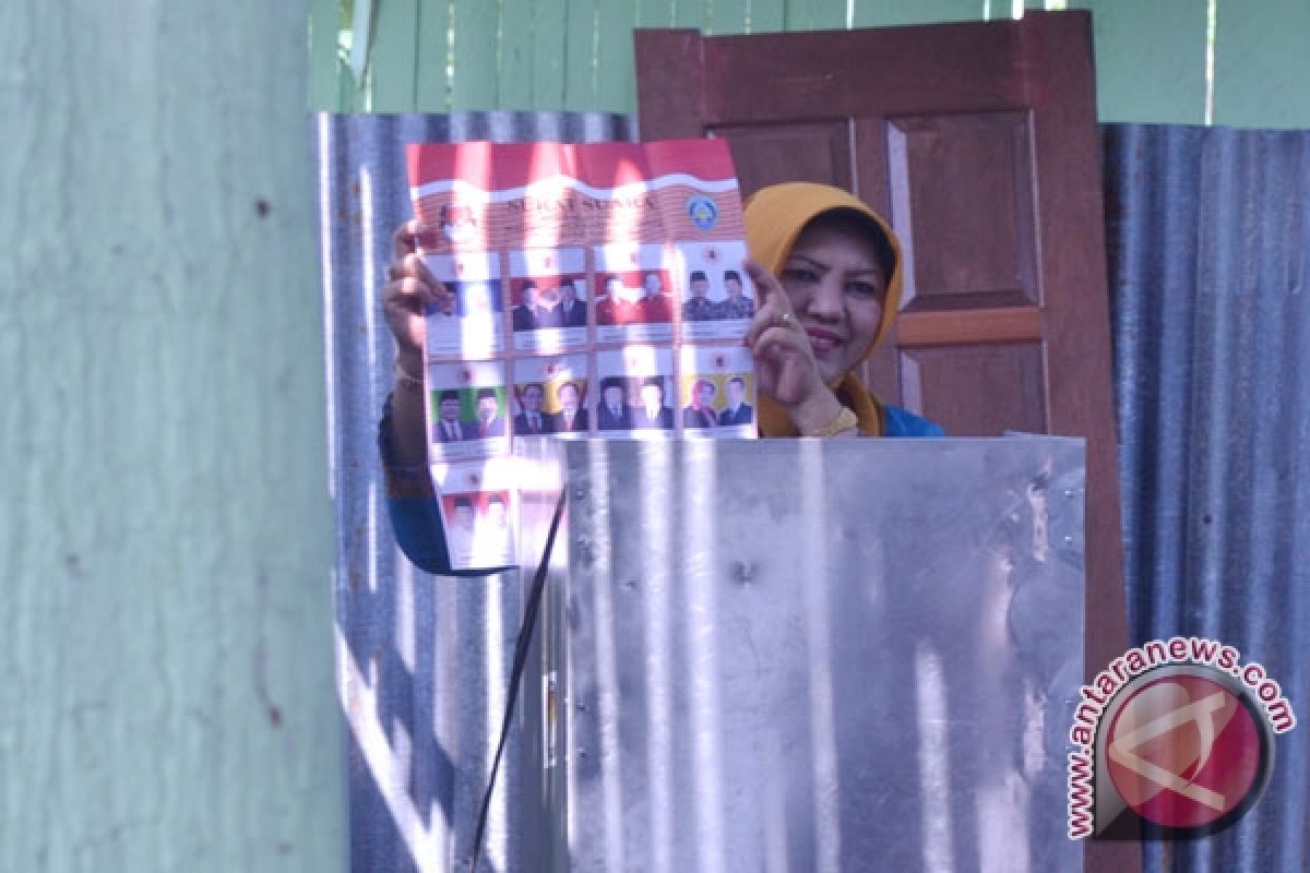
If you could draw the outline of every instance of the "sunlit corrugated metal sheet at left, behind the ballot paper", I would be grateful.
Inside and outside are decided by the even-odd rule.
[[[318,195],[337,507],[337,670],[350,722],[351,869],[460,869],[499,728],[519,627],[517,575],[432,579],[397,551],[375,427],[394,347],[377,306],[390,234],[413,213],[403,147],[418,141],[633,139],[604,114],[320,115]],[[507,759],[517,755],[515,738]],[[483,870],[515,855],[521,791],[502,774]]]

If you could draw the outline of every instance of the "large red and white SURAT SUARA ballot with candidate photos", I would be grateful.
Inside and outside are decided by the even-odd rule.
[[[428,458],[457,569],[515,564],[525,435],[753,437],[758,301],[722,140],[407,152]]]

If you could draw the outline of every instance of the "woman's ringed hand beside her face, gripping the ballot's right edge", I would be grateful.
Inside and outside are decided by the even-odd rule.
[[[823,428],[841,403],[819,373],[810,336],[777,277],[755,260],[744,267],[761,301],[745,335],[760,391],[782,404],[802,433]]]

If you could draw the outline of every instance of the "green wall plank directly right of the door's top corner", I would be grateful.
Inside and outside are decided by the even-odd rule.
[[[1077,0],[1070,7],[1093,13],[1102,122],[1205,120],[1204,0]]]

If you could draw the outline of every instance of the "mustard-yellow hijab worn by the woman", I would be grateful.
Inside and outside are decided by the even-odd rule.
[[[869,357],[900,309],[901,296],[901,250],[900,241],[891,226],[858,198],[834,188],[831,185],[812,182],[785,182],[756,191],[745,203],[745,238],[751,257],[778,275],[791,254],[791,246],[806,225],[820,215],[832,211],[852,212],[872,224],[887,238],[892,250],[892,275],[887,277],[887,298],[883,301],[883,315],[878,323],[874,342],[869,344],[861,361]],[[837,399],[855,414],[859,429],[869,436],[883,436],[887,420],[883,403],[874,397],[863,382],[855,377],[854,369],[846,370],[834,385],[831,385]],[[761,395],[760,436],[794,437],[800,436],[791,416],[772,398]]]

